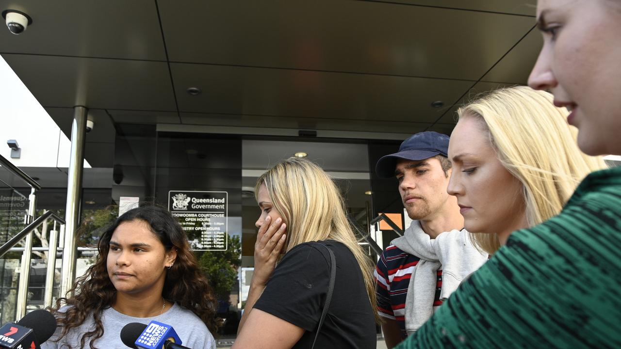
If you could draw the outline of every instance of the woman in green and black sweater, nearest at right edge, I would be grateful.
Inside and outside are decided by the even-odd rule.
[[[621,155],[621,0],[539,0],[537,17],[530,86],[571,110],[583,152]],[[399,348],[442,347],[621,347],[621,167],[589,174],[559,215],[513,232]]]

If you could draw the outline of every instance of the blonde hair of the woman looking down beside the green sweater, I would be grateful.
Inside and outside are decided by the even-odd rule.
[[[497,89],[457,113],[482,121],[502,165],[524,186],[529,227],[559,214],[580,181],[606,167],[601,156],[578,149],[578,130],[568,125],[567,109],[555,107],[550,93],[527,86]],[[471,237],[489,254],[500,248],[496,234]]]

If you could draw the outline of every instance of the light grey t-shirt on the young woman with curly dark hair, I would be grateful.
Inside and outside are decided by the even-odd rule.
[[[61,310],[62,311],[62,310]],[[175,303],[164,314],[155,317],[132,317],[121,314],[112,308],[102,312],[101,322],[104,324],[104,335],[94,341],[96,348],[127,348],[120,340],[120,330],[130,322],[140,322],[148,324],[151,320],[171,325],[181,338],[185,347],[193,349],[215,349],[214,336],[211,335],[207,326],[193,312]],[[75,327],[59,342],[53,342],[61,333],[58,327],[56,333],[47,342],[41,345],[41,349],[66,349],[79,348],[82,334],[94,329],[93,317],[87,317],[84,323]],[[84,349],[89,348],[89,341],[84,345]]]

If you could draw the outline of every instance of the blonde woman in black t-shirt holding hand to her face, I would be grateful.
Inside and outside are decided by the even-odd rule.
[[[336,184],[290,158],[258,179],[255,195],[255,272],[233,348],[375,348],[373,266]]]

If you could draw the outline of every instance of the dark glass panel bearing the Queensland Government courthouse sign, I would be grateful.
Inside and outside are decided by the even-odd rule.
[[[188,234],[219,301],[224,343],[235,337],[241,317],[242,141],[160,132],[156,163],[156,202],[167,206]]]

